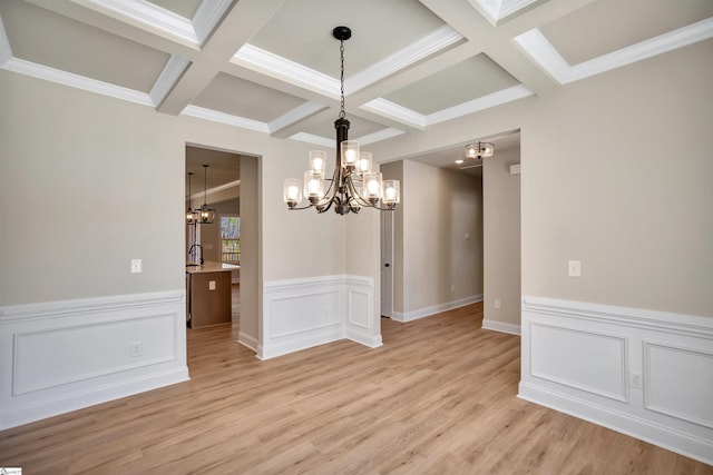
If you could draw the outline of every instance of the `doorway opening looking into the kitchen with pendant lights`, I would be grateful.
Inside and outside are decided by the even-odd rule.
[[[188,339],[192,338],[192,331],[207,331],[208,328],[223,326],[221,335],[254,350],[254,345],[245,342],[257,342],[258,158],[193,144],[186,144],[185,150],[186,176],[193,174],[189,196],[186,189],[185,209],[197,209],[207,204],[216,211],[213,222],[186,225],[184,257],[187,264]],[[201,260],[203,266],[199,266]],[[191,286],[196,271],[215,271],[211,274],[215,278],[205,279],[205,308],[192,300],[192,297],[201,298]],[[218,299],[221,304],[215,301]],[[203,326],[194,315],[201,310],[209,315],[204,320],[207,324]],[[229,330],[226,331],[226,328]],[[191,367],[191,358],[188,363]]]

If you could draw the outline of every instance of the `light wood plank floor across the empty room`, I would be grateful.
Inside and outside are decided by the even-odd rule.
[[[516,398],[519,338],[479,304],[260,362],[188,330],[191,382],[0,433],[25,474],[713,474]]]

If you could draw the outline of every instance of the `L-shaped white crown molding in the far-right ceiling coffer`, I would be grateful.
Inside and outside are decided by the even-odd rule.
[[[569,66],[537,28],[516,37],[515,42],[553,79],[564,86],[710,38],[713,38],[713,18],[697,21],[575,66]]]

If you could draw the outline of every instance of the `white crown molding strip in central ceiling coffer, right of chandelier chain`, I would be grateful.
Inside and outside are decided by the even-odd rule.
[[[458,31],[443,24],[420,40],[353,75],[344,81],[345,86],[350,93],[356,92],[461,40],[463,37]]]

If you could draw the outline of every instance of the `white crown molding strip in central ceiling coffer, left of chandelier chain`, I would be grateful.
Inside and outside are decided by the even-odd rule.
[[[313,92],[339,99],[340,82],[338,79],[250,43],[243,44],[233,56],[231,62]]]

